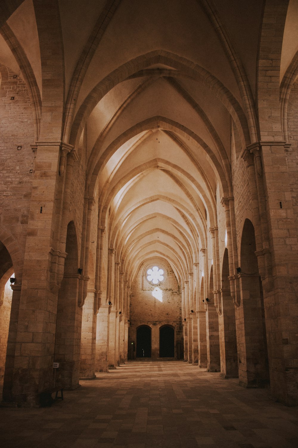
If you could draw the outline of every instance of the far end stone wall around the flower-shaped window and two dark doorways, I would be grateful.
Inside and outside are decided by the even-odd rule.
[[[155,286],[146,279],[150,267],[160,266],[167,272],[164,282],[158,287],[162,291],[162,302],[152,296]],[[137,274],[130,294],[130,327],[128,335],[129,350],[131,342],[137,342],[137,328],[140,325],[151,327],[151,358],[159,357],[159,328],[170,325],[175,328],[175,356],[177,344],[183,347],[181,293],[171,267],[159,260],[144,262]],[[135,357],[134,352],[134,357]]]

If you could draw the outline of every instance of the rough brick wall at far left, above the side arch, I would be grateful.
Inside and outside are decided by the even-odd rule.
[[[34,121],[25,82],[3,65],[0,73],[0,227],[13,234],[24,254],[34,168],[30,146],[35,143]],[[17,146],[21,146],[19,151]]]

